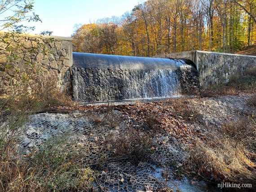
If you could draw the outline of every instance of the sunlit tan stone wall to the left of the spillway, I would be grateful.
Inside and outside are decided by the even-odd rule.
[[[63,92],[71,87],[72,39],[0,33],[0,92],[8,93],[28,74],[52,77]]]

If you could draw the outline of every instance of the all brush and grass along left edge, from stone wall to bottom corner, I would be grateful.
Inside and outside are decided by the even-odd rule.
[[[79,154],[71,145],[57,141],[49,140],[39,152],[18,154],[16,141],[31,114],[51,106],[75,105],[70,96],[58,91],[54,80],[35,75],[0,97],[0,191],[72,191],[93,174],[75,161]]]

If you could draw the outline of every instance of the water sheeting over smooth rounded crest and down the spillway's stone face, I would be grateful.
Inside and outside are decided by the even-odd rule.
[[[73,96],[79,102],[180,96],[198,84],[198,72],[190,63],[73,52]]]

